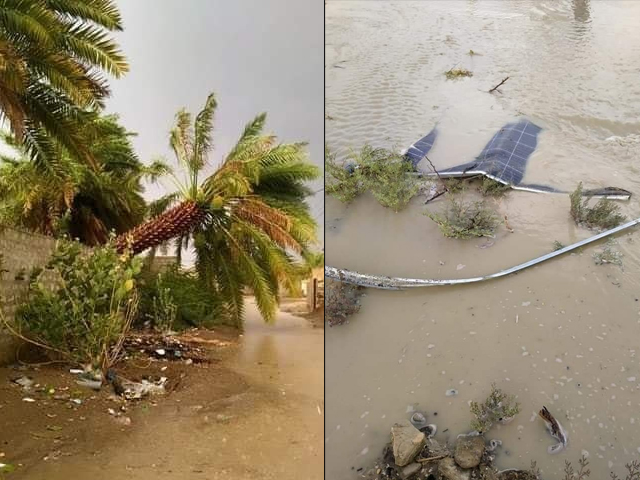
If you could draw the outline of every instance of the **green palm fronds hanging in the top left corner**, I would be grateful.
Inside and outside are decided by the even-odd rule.
[[[55,144],[95,164],[88,123],[109,95],[105,73],[128,64],[109,33],[122,29],[114,0],[0,0],[0,120],[37,162]]]

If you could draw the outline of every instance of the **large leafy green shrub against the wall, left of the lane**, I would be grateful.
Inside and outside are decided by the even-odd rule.
[[[110,243],[91,251],[59,241],[47,265],[55,288],[35,278],[15,320],[5,326],[58,359],[106,371],[120,356],[138,305],[141,260],[118,254]]]

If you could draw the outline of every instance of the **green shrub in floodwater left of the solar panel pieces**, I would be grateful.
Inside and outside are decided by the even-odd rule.
[[[325,150],[327,165],[326,191],[343,202],[350,202],[369,190],[384,206],[398,212],[418,193],[423,183],[413,176],[411,162],[398,152],[365,145],[352,151],[346,165],[340,165]]]

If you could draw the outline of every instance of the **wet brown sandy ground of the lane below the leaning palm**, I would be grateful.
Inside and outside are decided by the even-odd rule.
[[[9,478],[323,478],[323,331],[285,313],[263,325],[253,304],[247,315],[238,346],[216,351],[206,368],[190,366],[155,406],[131,408],[128,427],[107,414],[106,398],[77,410],[24,403],[4,388],[15,372],[0,371],[2,461],[23,464]],[[62,430],[47,430],[54,424]]]

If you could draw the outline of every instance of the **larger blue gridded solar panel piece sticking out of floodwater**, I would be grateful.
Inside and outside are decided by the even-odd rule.
[[[484,174],[509,185],[519,185],[541,128],[521,120],[502,127],[472,162],[440,170],[442,176]]]

